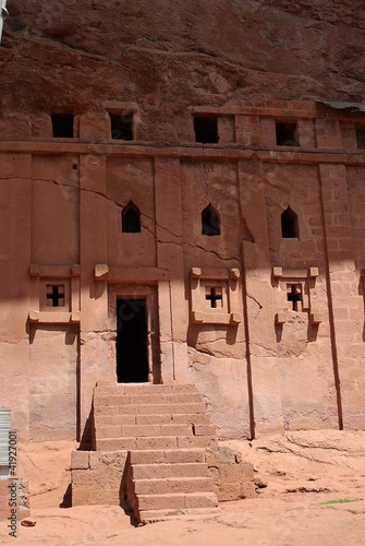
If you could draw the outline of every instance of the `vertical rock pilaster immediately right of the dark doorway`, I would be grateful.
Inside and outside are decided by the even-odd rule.
[[[165,383],[187,380],[187,302],[182,249],[179,159],[155,159],[157,264],[169,271],[158,286],[161,377]]]

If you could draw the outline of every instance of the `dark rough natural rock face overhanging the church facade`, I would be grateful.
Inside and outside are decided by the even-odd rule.
[[[11,0],[0,67],[5,111],[136,100],[179,117],[231,99],[361,102],[363,2]]]

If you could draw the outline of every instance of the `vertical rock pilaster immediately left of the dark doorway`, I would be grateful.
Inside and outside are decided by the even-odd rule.
[[[81,432],[90,440],[87,418],[93,388],[108,377],[108,283],[95,282],[97,263],[108,264],[108,226],[106,199],[106,157],[86,155],[81,162]],[[86,427],[86,430],[85,430]]]

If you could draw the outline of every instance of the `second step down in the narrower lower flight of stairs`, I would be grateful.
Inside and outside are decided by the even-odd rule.
[[[133,464],[132,477],[137,479],[209,477],[206,463]]]

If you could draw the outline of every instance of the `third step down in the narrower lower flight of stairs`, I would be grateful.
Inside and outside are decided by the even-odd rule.
[[[210,477],[174,477],[135,479],[136,495],[166,495],[170,492],[211,492]]]

